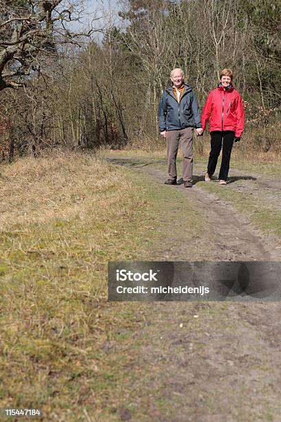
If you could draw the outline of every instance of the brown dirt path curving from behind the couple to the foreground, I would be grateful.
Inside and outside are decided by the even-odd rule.
[[[112,162],[146,172],[163,187],[165,172],[147,165],[152,161]],[[249,181],[259,195],[266,190],[274,198],[281,185],[247,174],[229,187]],[[196,185],[170,188],[188,195],[210,221],[210,238],[194,238],[182,247],[185,221],[175,217],[176,237],[167,237],[157,259],[160,252],[162,259],[189,260],[192,247],[198,261],[280,261],[280,245],[263,237],[231,205]],[[132,409],[138,408],[143,421],[281,421],[280,303],[152,303],[150,310],[149,321],[134,334],[138,352],[132,368],[141,368],[143,376],[130,381],[136,400],[122,408],[119,420],[133,419]]]

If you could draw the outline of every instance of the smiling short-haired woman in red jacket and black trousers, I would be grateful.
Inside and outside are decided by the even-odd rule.
[[[242,98],[232,85],[233,74],[230,69],[220,73],[218,88],[209,93],[202,112],[202,128],[211,116],[209,132],[211,134],[211,152],[205,181],[211,181],[216,170],[220,150],[222,163],[218,175],[220,185],[227,184],[229,163],[233,142],[240,141],[244,129],[244,108]]]

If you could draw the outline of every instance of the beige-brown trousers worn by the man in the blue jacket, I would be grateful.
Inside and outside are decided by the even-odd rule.
[[[176,156],[178,146],[183,152],[183,180],[192,180],[193,139],[192,128],[167,130],[166,132],[169,179],[176,179]]]

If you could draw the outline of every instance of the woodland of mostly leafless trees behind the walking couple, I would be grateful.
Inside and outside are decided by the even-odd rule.
[[[89,14],[81,1],[0,1],[2,160],[45,148],[163,148],[158,102],[175,67],[201,110],[231,68],[246,112],[239,148],[280,154],[278,0],[114,6],[118,14],[110,3],[94,12],[92,2]]]

